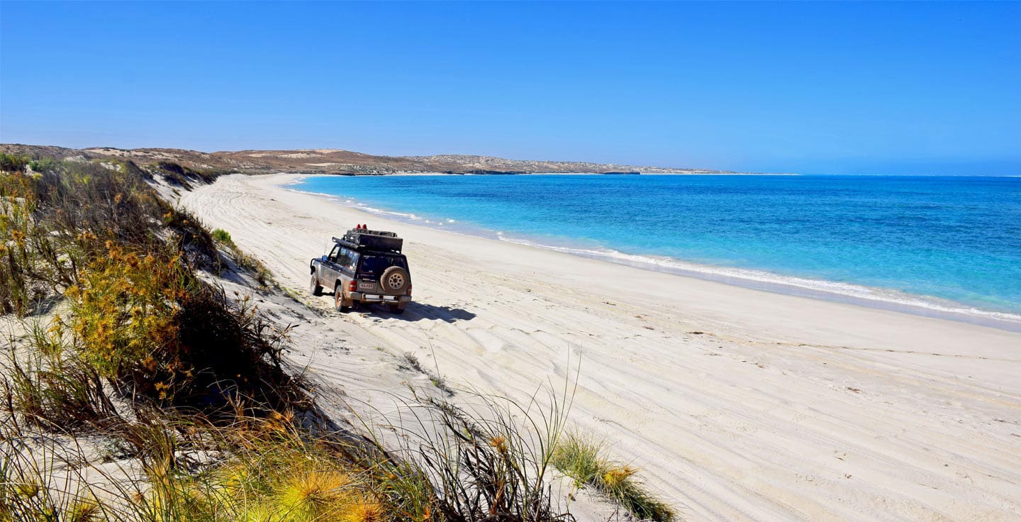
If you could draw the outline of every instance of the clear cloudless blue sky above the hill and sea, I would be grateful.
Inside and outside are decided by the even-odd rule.
[[[0,142],[1021,175],[1021,3],[0,2]]]

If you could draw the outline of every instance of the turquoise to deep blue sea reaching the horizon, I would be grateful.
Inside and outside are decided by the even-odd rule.
[[[779,291],[1021,314],[1021,178],[379,176],[295,188]]]

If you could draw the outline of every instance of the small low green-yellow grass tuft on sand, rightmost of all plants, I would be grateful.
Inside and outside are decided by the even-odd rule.
[[[640,520],[670,522],[677,513],[669,504],[649,492],[635,477],[637,468],[614,462],[602,443],[577,433],[567,434],[553,450],[553,466],[618,502]]]

